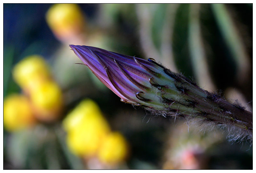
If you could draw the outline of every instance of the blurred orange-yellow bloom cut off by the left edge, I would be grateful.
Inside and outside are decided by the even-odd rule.
[[[6,130],[24,129],[35,122],[27,97],[12,94],[4,99],[4,127]]]

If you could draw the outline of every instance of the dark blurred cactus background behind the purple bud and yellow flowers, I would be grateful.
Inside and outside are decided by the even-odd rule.
[[[252,169],[247,141],[228,142],[221,130],[188,128],[187,120],[124,104],[75,64],[81,61],[68,47],[154,58],[252,111],[252,4],[77,4],[68,14],[69,7],[62,8],[58,18],[49,14],[53,4],[4,4],[4,99],[13,93],[30,99],[12,69],[34,54],[49,64],[63,95],[58,120],[4,128],[4,169]],[[111,130],[124,136],[126,159],[108,165],[70,151],[62,121],[84,98],[94,100]]]

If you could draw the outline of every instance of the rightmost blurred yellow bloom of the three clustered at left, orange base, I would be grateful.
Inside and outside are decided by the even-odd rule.
[[[30,98],[36,116],[42,121],[53,121],[59,117],[63,100],[57,83],[47,81],[31,90]]]

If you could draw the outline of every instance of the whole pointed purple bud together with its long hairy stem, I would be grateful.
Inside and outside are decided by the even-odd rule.
[[[252,113],[203,90],[152,58],[147,61],[91,46],[70,47],[84,65],[125,103],[143,106],[164,116],[199,117],[207,122],[252,131]]]

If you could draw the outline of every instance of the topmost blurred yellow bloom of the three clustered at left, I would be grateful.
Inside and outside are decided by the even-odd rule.
[[[49,80],[51,73],[43,57],[31,55],[21,60],[13,68],[13,78],[23,90],[30,90]]]

